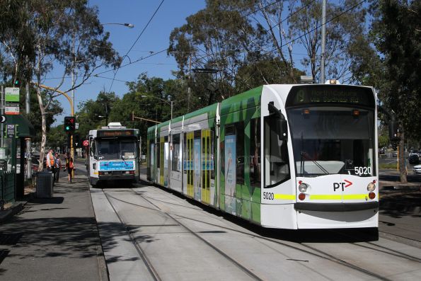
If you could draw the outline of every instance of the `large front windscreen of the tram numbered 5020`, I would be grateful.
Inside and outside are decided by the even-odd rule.
[[[297,176],[375,176],[373,110],[313,107],[287,113]]]

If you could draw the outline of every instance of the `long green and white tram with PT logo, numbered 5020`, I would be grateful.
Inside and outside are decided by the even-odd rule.
[[[150,127],[148,178],[255,224],[378,227],[376,93],[265,85]]]

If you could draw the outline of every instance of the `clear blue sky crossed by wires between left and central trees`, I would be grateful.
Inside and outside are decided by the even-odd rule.
[[[151,16],[158,8],[161,0],[90,0],[90,6],[98,6],[99,18],[101,23],[132,23],[134,28],[127,28],[122,25],[104,25],[105,31],[110,32],[110,41],[113,47],[120,53],[125,55],[129,48],[133,45],[139,34],[148,23]],[[185,23],[185,18],[200,11],[204,8],[204,0],[165,0],[159,8],[158,12],[149,23],[144,33],[137,41],[136,45],[129,52],[129,59],[125,59],[123,64],[127,64],[129,60],[134,61],[141,57],[151,55],[151,52],[159,52],[169,46],[169,36],[173,28],[180,27]],[[148,76],[157,76],[163,79],[173,78],[171,70],[176,70],[177,64],[173,57],[168,57],[166,52],[159,55],[122,67],[115,76],[115,81],[111,88],[118,96],[127,93],[127,86],[122,81],[137,81],[137,76],[146,72]],[[96,73],[103,72],[107,69],[101,69]],[[60,73],[50,74],[51,76],[59,76]],[[50,77],[51,77],[50,76]],[[100,74],[101,77],[92,77],[88,84],[76,89],[75,92],[75,111],[77,105],[87,99],[96,99],[100,91],[110,90],[111,82],[114,76],[113,71]],[[71,81],[67,78],[67,84]],[[58,80],[47,79],[45,84],[54,86],[54,82]],[[63,87],[64,89],[65,87]],[[58,98],[62,103],[64,113],[57,117],[56,124],[63,122],[63,117],[70,115],[71,109],[69,102],[64,97]]]

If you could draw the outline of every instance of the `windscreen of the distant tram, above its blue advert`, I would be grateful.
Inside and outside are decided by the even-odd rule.
[[[96,139],[98,160],[133,160],[137,158],[137,141],[128,139]]]

